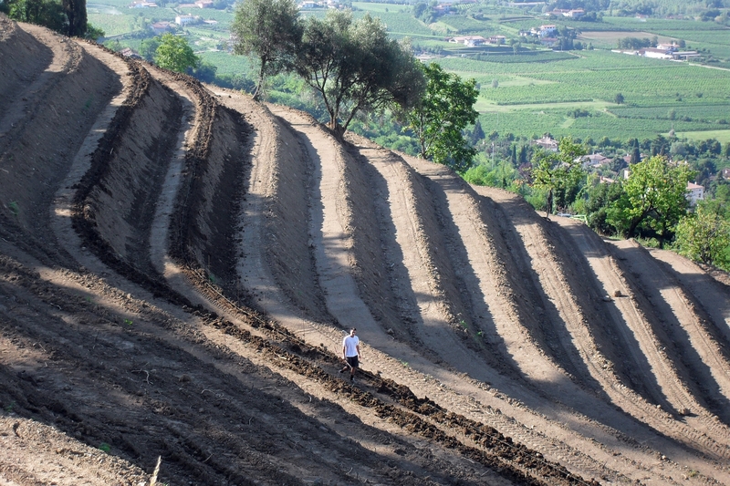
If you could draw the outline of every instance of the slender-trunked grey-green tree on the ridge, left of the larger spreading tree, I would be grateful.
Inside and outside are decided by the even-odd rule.
[[[231,32],[234,53],[258,60],[254,99],[261,98],[266,76],[294,67],[302,25],[294,0],[244,0],[235,8]]]

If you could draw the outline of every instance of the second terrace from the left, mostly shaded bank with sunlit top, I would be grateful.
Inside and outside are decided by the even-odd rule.
[[[77,43],[42,27],[25,28],[48,46],[53,60],[29,83],[24,96],[13,97],[16,102],[5,113],[8,131],[0,138],[0,192],[5,204],[13,202],[8,216],[26,232],[50,240],[46,209],[79,149],[77,132],[91,128],[121,87],[110,68]],[[87,86],[88,78],[102,82]],[[74,125],[64,122],[71,112],[77,119]],[[26,190],[34,186],[36,190]]]

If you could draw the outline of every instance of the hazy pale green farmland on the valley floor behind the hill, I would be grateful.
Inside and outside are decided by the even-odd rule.
[[[89,20],[109,36],[134,28],[139,16],[150,21],[172,21],[181,13],[214,19],[217,25],[185,29],[196,53],[218,67],[221,75],[245,73],[250,63],[220,49],[229,38],[232,10],[179,8],[130,9],[128,0],[89,4]],[[487,4],[460,5],[457,15],[439,17],[426,25],[409,5],[355,2],[355,16],[380,17],[391,36],[410,37],[416,54],[463,78],[479,83],[476,109],[485,132],[511,132],[531,137],[549,132],[579,139],[609,137],[654,138],[674,133],[693,139],[727,140],[730,129],[730,70],[695,63],[672,62],[610,52],[620,38],[634,36],[660,42],[682,39],[688,49],[704,49],[709,67],[730,65],[730,28],[694,19],[668,20],[604,16],[602,22],[547,19],[527,10]],[[326,9],[306,16],[324,16]],[[607,14],[607,13],[604,13]],[[518,35],[520,30],[547,23],[579,29],[576,40],[593,50],[556,52]],[[464,47],[446,42],[447,36],[503,35],[516,47]],[[139,46],[139,39],[124,40]],[[716,61],[713,63],[713,61]],[[617,104],[617,95],[623,103]],[[576,110],[579,116],[576,118]]]

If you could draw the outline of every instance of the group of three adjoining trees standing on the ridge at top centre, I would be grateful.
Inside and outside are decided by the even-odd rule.
[[[255,99],[267,77],[296,73],[318,94],[336,136],[358,113],[389,110],[422,157],[457,171],[471,166],[474,149],[462,131],[477,116],[475,81],[422,65],[407,41],[389,38],[380,19],[354,19],[349,10],[302,19],[294,0],[244,0],[231,31],[235,54],[257,63]]]

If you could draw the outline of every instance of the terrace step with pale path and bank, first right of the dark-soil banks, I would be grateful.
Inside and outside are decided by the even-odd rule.
[[[251,305],[258,306],[258,301],[266,299],[262,305],[267,312],[283,316],[291,312],[277,303],[288,301],[304,311],[305,317],[331,321],[318,284],[309,229],[312,163],[297,136],[268,109],[238,94],[231,99],[257,127],[241,244],[243,278],[251,289]],[[284,295],[272,299],[276,292]]]

